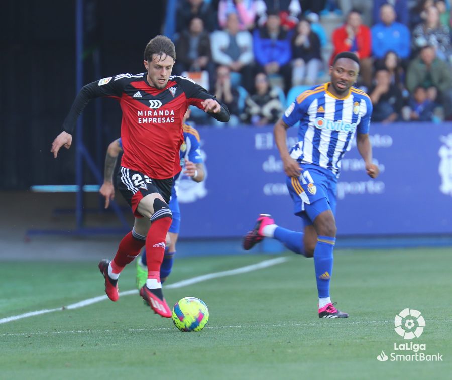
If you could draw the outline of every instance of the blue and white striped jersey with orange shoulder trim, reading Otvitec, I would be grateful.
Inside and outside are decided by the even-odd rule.
[[[338,99],[327,88],[328,83],[324,83],[302,92],[287,108],[282,120],[288,126],[300,122],[298,143],[290,150],[292,158],[338,174],[341,159],[352,147],[356,132],[369,132],[372,102],[355,87],[350,88],[344,99]]]

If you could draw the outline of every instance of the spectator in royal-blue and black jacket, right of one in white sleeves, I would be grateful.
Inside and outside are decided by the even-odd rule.
[[[263,71],[267,75],[282,75],[287,91],[291,84],[292,74],[290,37],[288,32],[281,28],[277,12],[268,12],[266,26],[254,30],[253,45],[259,71]]]

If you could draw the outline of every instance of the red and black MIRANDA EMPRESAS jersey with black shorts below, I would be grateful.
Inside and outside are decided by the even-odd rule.
[[[183,143],[182,120],[188,106],[195,105],[203,109],[201,102],[215,97],[185,77],[171,76],[166,87],[158,89],[148,83],[146,76],[146,72],[137,75],[119,74],[85,85],[72,104],[63,129],[72,134],[78,116],[90,100],[103,96],[116,98],[123,111],[121,138],[124,154],[121,166],[138,172],[142,180],[148,177],[151,182],[152,179],[171,181],[181,170],[179,149]],[[219,121],[228,121],[228,108],[220,101],[218,103],[221,111],[209,114]],[[138,186],[133,180],[128,182],[131,187],[127,192],[129,195],[123,189],[120,190],[135,212],[142,196],[139,196],[140,199],[135,197],[135,202],[132,202],[132,195],[154,191],[147,181]],[[166,202],[169,201],[169,194],[166,194],[168,187],[171,188],[171,184],[157,186],[160,193],[165,193],[162,195]],[[130,195],[130,192],[133,194]]]

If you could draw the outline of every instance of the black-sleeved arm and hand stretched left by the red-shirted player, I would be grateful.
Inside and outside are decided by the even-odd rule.
[[[61,132],[52,143],[52,149],[50,151],[53,153],[54,158],[57,158],[58,151],[62,146],[66,149],[70,148],[72,144],[71,135],[77,123],[78,117],[92,99],[101,96],[120,97],[120,81],[116,81],[113,77],[109,77],[83,86],[75,97],[72,107],[63,122],[63,132]]]

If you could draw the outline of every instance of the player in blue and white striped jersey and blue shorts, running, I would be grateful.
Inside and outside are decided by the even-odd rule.
[[[336,241],[336,185],[341,159],[356,137],[357,148],[371,178],[379,174],[372,163],[369,125],[372,102],[353,87],[359,73],[358,57],[338,54],[329,69],[331,81],[301,93],[274,127],[274,136],[294,213],[304,221],[304,232],[277,226],[268,214],[258,217],[243,246],[251,249],[264,237],[281,241],[297,254],[314,258],[320,318],[347,318],[331,303],[329,285]],[[287,128],[299,124],[298,143],[287,151]]]

